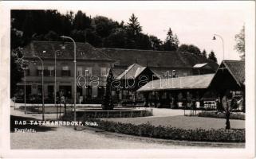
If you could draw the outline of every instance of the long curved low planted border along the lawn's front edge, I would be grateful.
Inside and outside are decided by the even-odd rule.
[[[95,121],[95,119],[93,119]],[[165,138],[197,142],[245,142],[245,130],[183,130],[171,126],[152,126],[150,123],[133,125],[131,123],[96,120],[97,128],[121,134],[143,137]]]

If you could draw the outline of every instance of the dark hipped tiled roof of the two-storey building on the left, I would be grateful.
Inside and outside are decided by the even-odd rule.
[[[29,45],[23,48],[25,56],[40,56],[43,59],[53,59],[54,52],[60,50],[57,58],[73,60],[73,42],[65,42],[65,48],[62,49],[61,41],[31,41]],[[77,60],[112,60],[104,52],[94,48],[88,43],[77,42]]]

